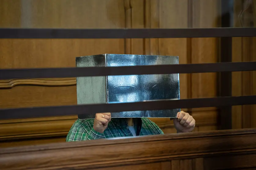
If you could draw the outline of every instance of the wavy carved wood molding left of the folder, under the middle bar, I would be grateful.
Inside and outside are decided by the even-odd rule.
[[[18,85],[38,86],[72,86],[76,85],[76,78],[45,78],[45,79],[11,79],[0,80],[1,88],[12,88]]]

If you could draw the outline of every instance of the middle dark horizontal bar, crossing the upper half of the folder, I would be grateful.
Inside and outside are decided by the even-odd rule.
[[[256,70],[256,62],[220,62],[203,64],[174,64],[121,67],[0,69],[0,80],[18,78],[60,78],[108,75],[113,76],[139,74],[209,73],[252,70]]]

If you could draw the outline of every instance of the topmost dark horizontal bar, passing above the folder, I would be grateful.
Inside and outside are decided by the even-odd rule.
[[[1,28],[0,38],[192,38],[255,37],[256,28],[39,29]]]

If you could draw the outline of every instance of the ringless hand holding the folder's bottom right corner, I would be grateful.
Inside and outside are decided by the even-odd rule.
[[[192,132],[195,128],[195,119],[186,112],[178,112],[177,118],[173,120],[177,133]]]

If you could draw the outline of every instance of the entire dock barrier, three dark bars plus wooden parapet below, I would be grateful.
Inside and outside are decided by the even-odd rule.
[[[255,37],[256,28],[211,29],[0,29],[0,38]],[[15,50],[15,49],[14,49]],[[0,69],[0,79],[256,70],[256,62],[165,66]],[[4,96],[1,96],[4,97]],[[115,104],[0,109],[0,119],[85,112],[161,110],[256,104],[256,95]],[[256,130],[166,134],[117,140],[5,148],[1,169],[255,169]]]

